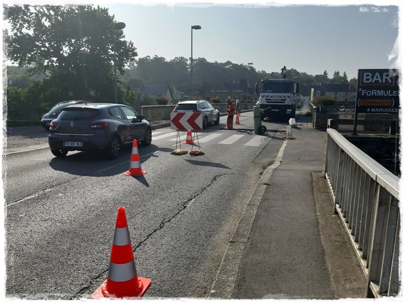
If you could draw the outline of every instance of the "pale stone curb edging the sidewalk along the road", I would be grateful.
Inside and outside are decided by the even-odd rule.
[[[269,183],[274,170],[282,162],[282,156],[287,141],[287,139],[283,141],[275,163],[264,171],[244,207],[236,229],[234,230],[230,242],[227,245],[222,263],[220,264],[218,273],[216,275],[215,282],[213,283],[211,292],[209,293],[209,298],[232,298],[245,244],[248,241],[249,234],[251,232],[252,225],[254,224],[258,208],[260,207],[262,197],[264,196],[265,189],[267,188],[267,184]]]

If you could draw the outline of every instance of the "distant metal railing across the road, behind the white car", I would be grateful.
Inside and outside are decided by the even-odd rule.
[[[212,103],[214,107],[217,107],[219,112],[225,113],[227,106],[225,103],[215,104]],[[254,107],[256,103],[243,103],[241,104],[241,110],[250,110]],[[170,114],[174,110],[176,104],[174,105],[148,105],[140,107],[140,114],[145,117],[146,120],[161,120],[170,119]]]

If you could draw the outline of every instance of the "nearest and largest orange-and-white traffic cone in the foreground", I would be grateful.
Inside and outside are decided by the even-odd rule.
[[[108,277],[92,293],[91,298],[138,298],[146,292],[150,284],[150,279],[137,276],[125,208],[120,207],[115,226]]]

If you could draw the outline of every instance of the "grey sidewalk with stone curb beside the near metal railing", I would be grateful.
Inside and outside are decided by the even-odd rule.
[[[255,192],[264,191],[259,203],[252,193],[210,297],[365,297],[365,276],[333,216],[322,173],[326,133],[304,124],[292,136],[257,184]],[[247,221],[249,234],[236,236]]]

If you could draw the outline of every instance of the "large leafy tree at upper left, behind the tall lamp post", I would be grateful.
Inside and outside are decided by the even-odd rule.
[[[6,11],[11,25],[8,56],[13,62],[52,78],[67,95],[113,100],[115,21],[108,9],[15,5]],[[116,66],[121,73],[137,56],[133,43],[123,37],[123,31],[116,30]]]

